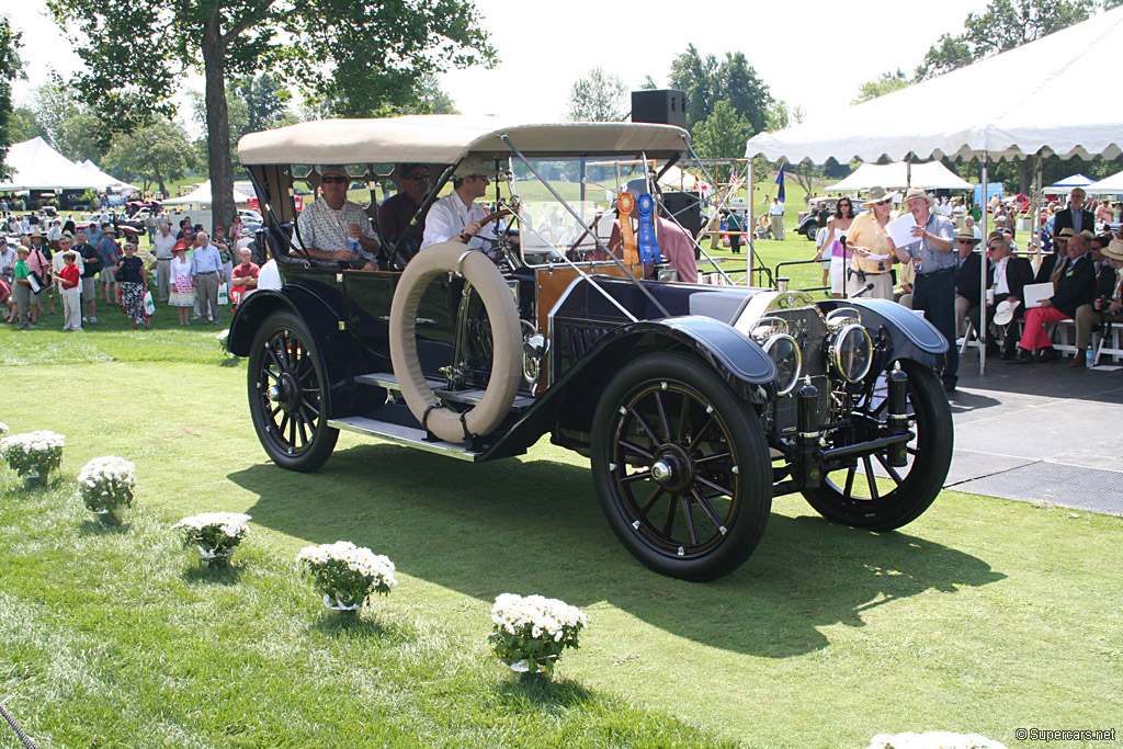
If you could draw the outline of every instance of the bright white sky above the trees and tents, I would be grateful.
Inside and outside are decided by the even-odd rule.
[[[52,68],[65,77],[81,61],[49,19],[46,0],[4,4],[0,12],[24,33],[20,54],[28,80],[17,82],[13,93],[17,106],[27,104]],[[745,53],[775,98],[802,107],[809,117],[829,116],[880,73],[901,67],[911,74],[941,34],[958,34],[968,11],[985,7],[983,0],[941,0],[939,12],[907,4],[889,12],[891,6],[838,0],[475,4],[501,63],[493,70],[453,71],[441,76],[441,85],[465,115],[526,121],[562,119],[574,81],[597,66],[629,89],[638,89],[646,75],[666,86],[670,61],[691,43],[703,55]],[[201,90],[202,79],[186,84]]]

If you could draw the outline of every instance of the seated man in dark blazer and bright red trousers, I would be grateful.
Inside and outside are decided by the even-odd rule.
[[[1057,293],[1042,300],[1041,305],[1025,312],[1025,329],[1017,342],[1017,358],[1013,364],[1031,364],[1034,351],[1039,362],[1057,358],[1052,340],[1046,332],[1050,322],[1068,320],[1076,314],[1076,308],[1089,304],[1095,299],[1096,272],[1088,256],[1088,238],[1083,234],[1068,239],[1067,262],[1057,274]],[[1058,264],[1060,265],[1060,264]]]

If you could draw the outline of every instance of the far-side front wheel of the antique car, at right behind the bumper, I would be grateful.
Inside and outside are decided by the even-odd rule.
[[[902,360],[901,367],[909,375],[909,427],[916,435],[909,442],[909,465],[893,468],[879,454],[825,476],[818,488],[805,490],[803,496],[828,520],[866,530],[894,530],[923,514],[943,488],[955,441],[948,396],[929,367],[912,360]],[[859,410],[884,423],[885,393],[883,373],[873,398],[859,403]],[[877,488],[875,460],[894,484],[888,492]]]

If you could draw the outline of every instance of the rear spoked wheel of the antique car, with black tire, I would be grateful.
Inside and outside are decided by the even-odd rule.
[[[292,312],[274,312],[254,338],[247,374],[249,413],[265,454],[289,471],[311,473],[339,439],[328,426],[330,393],[316,339]]]

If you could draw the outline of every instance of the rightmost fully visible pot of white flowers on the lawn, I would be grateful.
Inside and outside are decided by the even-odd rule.
[[[513,593],[496,596],[492,622],[489,641],[495,655],[511,670],[531,674],[551,673],[563,650],[579,647],[577,636],[588,623],[565,601]]]

